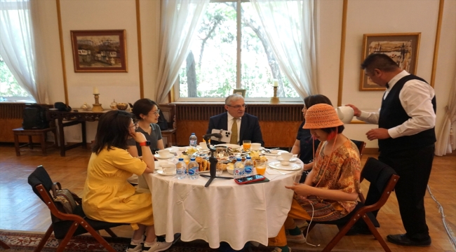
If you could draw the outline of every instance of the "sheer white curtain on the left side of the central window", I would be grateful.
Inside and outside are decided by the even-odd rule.
[[[180,66],[187,57],[196,25],[209,1],[163,0],[161,2],[160,59],[155,89],[156,102],[167,102],[167,94],[177,80]]]

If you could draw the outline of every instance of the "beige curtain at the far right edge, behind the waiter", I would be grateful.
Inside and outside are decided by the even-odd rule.
[[[451,153],[456,149],[456,76],[450,89],[448,105],[445,106],[445,118],[438,134],[435,154],[438,156]]]

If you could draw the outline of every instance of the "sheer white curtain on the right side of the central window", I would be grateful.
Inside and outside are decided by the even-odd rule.
[[[314,0],[250,0],[283,73],[300,97],[318,94]]]

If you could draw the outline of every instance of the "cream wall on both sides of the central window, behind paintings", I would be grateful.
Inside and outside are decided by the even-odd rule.
[[[318,83],[320,92],[337,105],[342,34],[342,0],[320,0],[318,4]],[[40,1],[43,10],[43,32],[46,34],[47,66],[51,102],[65,102],[62,62],[58,37],[55,1]],[[431,81],[434,41],[438,18],[437,0],[348,0],[347,38],[344,57],[342,104],[356,104],[360,109],[380,107],[382,92],[358,91],[363,34],[421,32],[417,75]],[[140,98],[138,36],[134,0],[60,0],[65,52],[65,70],[69,106],[79,108],[83,102],[94,102],[92,90],[100,90],[100,103],[109,108],[116,102],[135,102]],[[154,99],[154,83],[159,65],[160,1],[140,0],[142,64],[145,97]],[[72,62],[70,30],[126,29],[128,73],[75,73]],[[456,69],[456,1],[445,1],[440,50],[436,71],[437,127],[443,120],[443,107],[448,102],[450,85]],[[450,69],[448,71],[448,69]],[[88,123],[87,140],[95,137],[96,123]],[[352,139],[368,142],[365,132],[376,125],[347,125]],[[67,141],[79,141],[76,129],[66,129]]]

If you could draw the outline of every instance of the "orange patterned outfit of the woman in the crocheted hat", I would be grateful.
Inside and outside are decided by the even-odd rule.
[[[347,139],[331,155],[323,154],[326,141],[318,145],[314,163],[314,178],[312,183],[316,188],[341,190],[345,193],[361,193],[359,179],[361,176],[361,161],[356,145]],[[295,196],[295,200],[314,216],[315,221],[334,221],[349,214],[356,207],[356,201],[323,200],[320,197],[309,196],[303,200]]]

